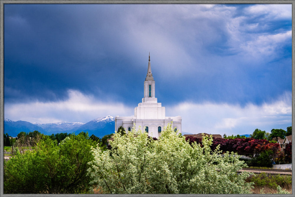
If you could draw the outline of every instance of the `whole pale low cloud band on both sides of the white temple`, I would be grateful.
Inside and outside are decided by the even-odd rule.
[[[255,128],[270,132],[272,128],[291,126],[291,93],[286,92],[272,103],[244,107],[228,103],[182,102],[165,106],[166,116],[182,116],[182,130],[189,133],[223,135],[252,133]],[[136,105],[134,105],[135,107]],[[14,121],[52,123],[88,122],[106,115],[132,116],[133,106],[104,102],[93,95],[68,90],[68,99],[56,102],[32,102],[5,105],[5,117]]]

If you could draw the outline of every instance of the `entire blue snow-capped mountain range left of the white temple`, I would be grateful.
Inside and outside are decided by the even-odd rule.
[[[21,131],[39,131],[45,135],[55,133],[80,133],[81,131],[88,132],[89,136],[94,134],[97,137],[103,137],[115,131],[115,118],[113,116],[106,116],[103,118],[96,118],[87,123],[81,122],[57,122],[57,123],[30,123],[26,121],[12,121],[4,118],[4,133],[9,136],[16,137]]]

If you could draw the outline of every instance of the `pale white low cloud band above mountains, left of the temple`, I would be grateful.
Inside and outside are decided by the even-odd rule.
[[[88,122],[107,115],[132,115],[133,108],[123,103],[99,101],[93,95],[68,90],[68,99],[55,102],[5,104],[5,118],[38,123]]]

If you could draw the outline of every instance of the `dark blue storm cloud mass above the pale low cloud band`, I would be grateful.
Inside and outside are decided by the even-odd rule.
[[[151,51],[159,102],[261,104],[291,91],[291,37],[251,51],[259,36],[289,31],[291,17],[250,8],[6,4],[5,102],[65,100],[74,89],[133,106]]]

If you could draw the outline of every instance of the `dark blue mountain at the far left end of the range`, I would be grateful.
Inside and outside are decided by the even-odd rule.
[[[7,118],[4,118],[4,133],[8,133],[9,136],[16,137],[21,131],[26,133],[30,131],[39,131],[44,133],[45,130],[35,124],[32,124],[27,121],[12,121]]]

